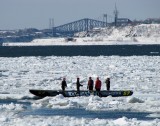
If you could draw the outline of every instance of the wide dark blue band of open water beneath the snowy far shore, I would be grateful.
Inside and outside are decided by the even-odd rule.
[[[20,56],[160,56],[160,45],[0,46],[0,57]]]

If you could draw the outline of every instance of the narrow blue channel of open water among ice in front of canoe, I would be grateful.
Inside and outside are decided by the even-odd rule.
[[[14,99],[0,100],[0,105],[3,104],[23,104],[26,110],[18,113],[21,117],[33,116],[70,116],[76,118],[99,118],[99,119],[117,119],[122,117],[137,118],[138,120],[153,120],[153,117],[147,117],[151,113],[147,112],[132,112],[132,111],[88,111],[85,108],[70,108],[70,109],[51,109],[39,108],[33,109],[31,103],[27,100],[19,101]]]

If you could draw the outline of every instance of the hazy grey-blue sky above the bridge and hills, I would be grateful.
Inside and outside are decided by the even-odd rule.
[[[160,0],[0,0],[0,29],[49,28],[50,18],[55,26],[100,19],[104,13],[113,16],[115,3],[119,17],[160,18]]]

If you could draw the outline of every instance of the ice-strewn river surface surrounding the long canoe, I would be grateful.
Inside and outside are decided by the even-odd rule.
[[[0,64],[0,125],[160,125],[159,56],[0,57]],[[35,96],[29,93],[29,89],[59,90],[63,77],[67,80],[67,90],[75,90],[77,76],[83,84],[81,89],[87,88],[89,76],[94,80],[99,76],[103,84],[102,89],[106,89],[104,80],[109,76],[111,90],[131,89],[134,94],[118,98],[111,96],[65,98],[58,95],[35,100]],[[34,111],[44,108],[51,115],[34,114]],[[28,111],[33,113],[22,114]],[[56,111],[71,115],[52,115]],[[85,112],[97,112],[98,115],[85,117],[87,116]],[[80,113],[85,114],[81,116]],[[112,113],[147,113],[145,117],[149,117],[150,120],[127,117],[123,114],[118,118],[109,118],[114,115]],[[107,117],[99,118],[101,114]]]

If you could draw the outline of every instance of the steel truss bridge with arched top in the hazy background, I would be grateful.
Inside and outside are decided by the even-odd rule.
[[[53,27],[53,36],[73,36],[77,32],[90,31],[96,27],[105,27],[106,22],[84,18],[68,24]]]

